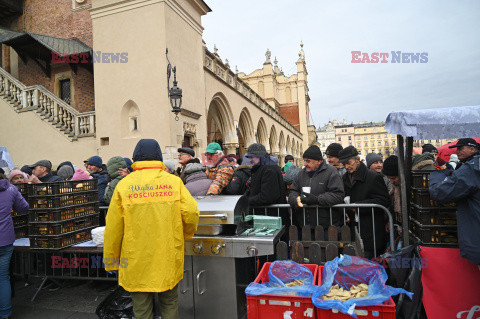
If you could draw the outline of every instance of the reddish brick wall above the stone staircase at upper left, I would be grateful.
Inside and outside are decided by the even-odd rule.
[[[85,0],[81,5],[91,4]],[[78,8],[72,10],[70,0],[24,0],[24,13],[14,22],[13,29],[31,33],[38,33],[64,39],[77,38],[90,47],[93,46],[92,19],[90,12]],[[55,93],[55,75],[71,71],[67,64],[52,64],[51,77],[48,78],[42,69],[32,60],[23,63],[19,59],[18,77],[25,85],[41,84],[49,91]],[[95,109],[93,91],[93,74],[88,70],[78,67],[77,74],[72,72],[74,106],[80,112]]]

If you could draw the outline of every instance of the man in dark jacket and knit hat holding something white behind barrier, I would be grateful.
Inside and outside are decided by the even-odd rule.
[[[302,205],[333,206],[343,203],[344,190],[342,178],[336,167],[327,165],[323,160],[322,152],[316,145],[312,145],[303,153],[304,168],[293,179],[288,195],[288,203],[295,209],[293,223],[297,227],[305,225],[323,226],[324,230],[332,224],[343,224],[341,211],[332,211],[324,208],[299,208],[298,197]],[[304,216],[305,214],[305,216]],[[304,223],[305,221],[305,223]],[[326,232],[327,233],[327,232]]]

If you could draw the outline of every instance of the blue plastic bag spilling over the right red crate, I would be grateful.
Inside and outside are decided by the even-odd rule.
[[[388,276],[382,265],[368,259],[342,255],[325,263],[322,273],[322,286],[312,296],[312,302],[317,308],[337,309],[340,312],[357,318],[355,307],[380,305],[391,296],[405,293],[410,297],[413,293],[402,288],[393,288],[385,285]],[[352,285],[368,284],[368,293],[365,297],[352,298],[346,301],[323,300],[322,296],[330,290],[332,285],[338,284],[345,290]]]

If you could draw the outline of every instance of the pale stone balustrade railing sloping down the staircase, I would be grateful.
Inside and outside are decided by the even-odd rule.
[[[95,136],[95,112],[80,113],[42,85],[25,86],[0,68],[0,96],[15,111],[35,110],[71,139]]]

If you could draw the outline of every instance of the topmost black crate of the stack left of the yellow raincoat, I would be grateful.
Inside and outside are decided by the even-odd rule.
[[[28,196],[64,195],[98,190],[98,180],[28,184]]]

